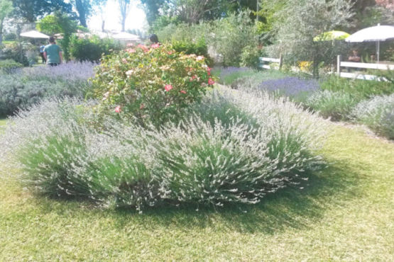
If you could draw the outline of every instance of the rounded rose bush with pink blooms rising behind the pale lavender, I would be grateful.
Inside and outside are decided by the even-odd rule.
[[[170,45],[130,47],[102,60],[93,93],[121,115],[160,124],[199,101],[205,87],[214,84],[204,60],[177,53]]]

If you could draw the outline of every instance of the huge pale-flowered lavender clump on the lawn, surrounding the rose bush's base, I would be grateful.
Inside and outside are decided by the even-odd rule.
[[[44,101],[11,118],[0,166],[44,195],[141,210],[258,203],[322,164],[324,120],[286,98],[232,92],[214,91],[160,130],[95,115],[92,102]]]

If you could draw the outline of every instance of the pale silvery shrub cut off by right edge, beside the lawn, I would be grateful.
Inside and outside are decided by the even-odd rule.
[[[361,101],[351,115],[356,123],[370,127],[378,135],[394,139],[394,94]]]

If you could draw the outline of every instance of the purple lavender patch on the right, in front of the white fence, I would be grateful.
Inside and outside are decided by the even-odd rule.
[[[263,81],[258,85],[258,89],[268,91],[279,91],[285,96],[297,96],[300,93],[310,93],[320,89],[319,82],[315,79],[299,79],[290,76],[283,79],[272,79]]]

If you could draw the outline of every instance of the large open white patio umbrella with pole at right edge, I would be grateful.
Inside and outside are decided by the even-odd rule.
[[[380,24],[361,29],[345,39],[346,42],[376,42],[376,57],[378,58],[378,62],[381,48],[380,43],[381,41],[387,40],[394,40],[394,26]]]

